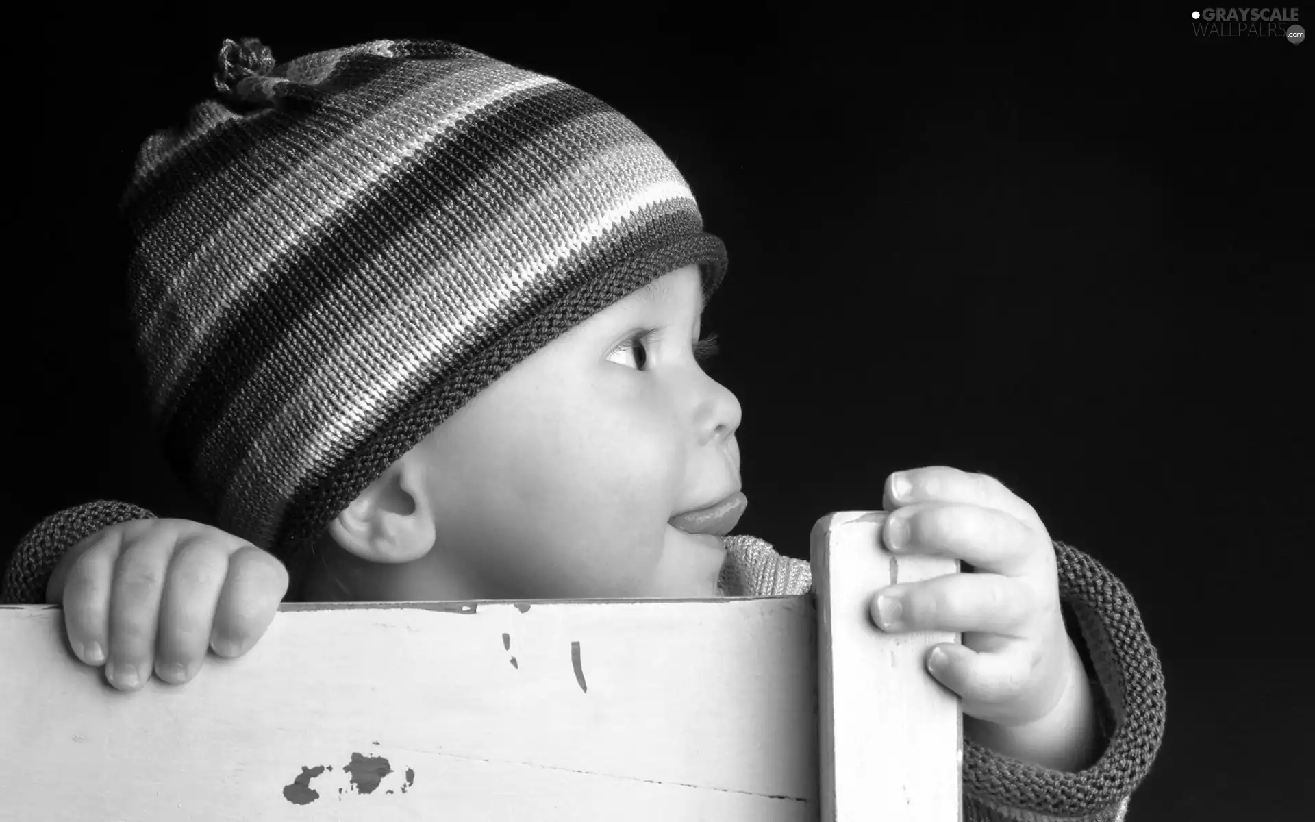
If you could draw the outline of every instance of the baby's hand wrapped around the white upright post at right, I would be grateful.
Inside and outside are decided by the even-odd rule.
[[[892,512],[881,526],[886,550],[953,556],[972,568],[882,588],[872,598],[876,623],[892,633],[963,631],[963,644],[938,644],[927,660],[931,675],[963,697],[964,714],[1006,727],[1048,715],[1076,656],[1060,612],[1055,546],[1036,510],[999,480],[944,467],[892,473],[882,502]],[[901,601],[898,622],[880,616],[882,594]],[[934,663],[938,651],[944,667]]]

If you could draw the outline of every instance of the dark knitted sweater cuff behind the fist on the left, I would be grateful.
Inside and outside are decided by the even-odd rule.
[[[64,551],[96,531],[155,514],[126,502],[87,502],[51,514],[18,541],[0,583],[0,605],[42,605],[46,584]]]

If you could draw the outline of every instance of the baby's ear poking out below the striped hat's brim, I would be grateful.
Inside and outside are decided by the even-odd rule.
[[[434,547],[426,468],[414,454],[389,466],[329,523],[330,535],[345,551],[368,562],[393,564],[414,562]]]

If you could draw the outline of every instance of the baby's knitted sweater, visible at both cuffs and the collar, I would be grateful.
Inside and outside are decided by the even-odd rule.
[[[154,518],[122,502],[91,502],[39,522],[9,560],[0,604],[39,604],[63,552],[84,537],[128,520]],[[813,588],[809,563],[781,556],[753,537],[727,539],[726,596],[794,596]],[[965,822],[1089,819],[1120,822],[1128,800],[1160,750],[1165,722],[1164,675],[1132,596],[1098,562],[1055,543],[1060,601],[1091,683],[1101,756],[1078,773],[1052,771],[964,739]]]

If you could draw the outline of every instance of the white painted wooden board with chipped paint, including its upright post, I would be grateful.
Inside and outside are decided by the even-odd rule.
[[[242,659],[137,693],[72,656],[58,606],[0,608],[4,805],[51,821],[957,819],[957,701],[920,669],[943,639],[871,625],[890,566],[864,517],[814,529],[817,597],[284,604]]]

